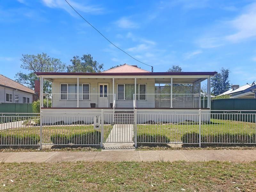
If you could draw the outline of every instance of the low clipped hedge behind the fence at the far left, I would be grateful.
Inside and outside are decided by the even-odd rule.
[[[36,134],[0,134],[0,145],[37,145],[40,136]]]

